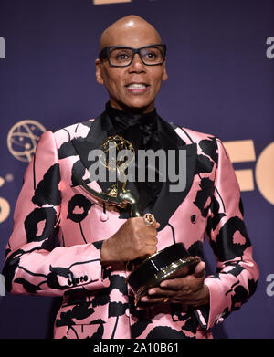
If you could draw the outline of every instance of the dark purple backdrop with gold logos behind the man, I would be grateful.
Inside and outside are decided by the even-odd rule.
[[[100,33],[130,14],[156,26],[168,46],[169,80],[156,103],[163,119],[215,134],[224,142],[250,140],[254,145],[255,159],[243,159],[234,167],[251,170],[254,187],[246,188],[242,198],[261,276],[255,295],[214,334],[273,338],[274,180],[272,188],[268,184],[274,173],[273,0],[132,0],[109,5],[1,0],[0,269],[27,157],[35,145],[31,139],[40,135],[40,125],[50,130],[100,114],[107,100],[95,80]],[[266,148],[272,160],[258,172]],[[208,245],[205,257],[213,272]],[[0,276],[0,338],[51,337],[59,300],[3,296],[1,281]]]

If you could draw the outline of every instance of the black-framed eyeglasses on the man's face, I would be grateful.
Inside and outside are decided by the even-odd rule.
[[[132,64],[136,53],[146,66],[162,65],[166,55],[166,45],[155,44],[140,48],[109,46],[100,51],[99,58],[100,60],[107,58],[112,67],[127,67]]]

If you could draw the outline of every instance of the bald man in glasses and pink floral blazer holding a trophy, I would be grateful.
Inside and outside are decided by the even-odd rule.
[[[6,289],[63,296],[55,338],[212,337],[210,329],[247,301],[258,281],[227,152],[215,137],[158,116],[165,46],[141,17],[123,17],[103,32],[96,78],[110,96],[106,110],[94,121],[44,133],[26,170],[6,250]],[[171,192],[161,180],[128,183],[142,211],[154,215],[151,226],[100,205],[77,180],[97,192],[110,190],[104,180],[90,182],[90,152],[117,134],[136,151],[186,152],[183,192]],[[136,306],[126,262],[177,242],[202,257],[205,231],[216,275],[205,277],[201,259],[193,273],[164,280]],[[60,247],[54,247],[55,232]]]

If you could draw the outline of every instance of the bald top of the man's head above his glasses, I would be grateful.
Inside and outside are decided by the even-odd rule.
[[[128,46],[128,37],[131,37],[132,47],[135,47],[134,43],[145,36],[153,37],[153,43],[162,43],[158,31],[142,17],[135,15],[121,17],[101,34],[100,50],[107,46]]]

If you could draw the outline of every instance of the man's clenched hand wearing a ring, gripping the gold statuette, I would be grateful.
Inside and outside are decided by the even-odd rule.
[[[157,251],[156,229],[159,226],[156,221],[152,226],[145,226],[142,217],[127,219],[113,236],[103,242],[101,264],[152,256]]]

